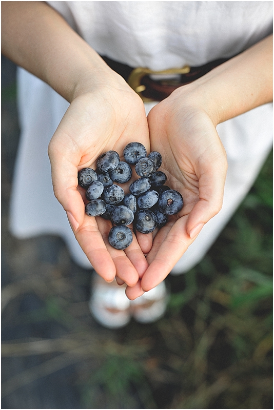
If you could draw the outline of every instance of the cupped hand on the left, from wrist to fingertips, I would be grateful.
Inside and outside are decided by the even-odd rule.
[[[85,214],[85,193],[77,187],[77,172],[85,167],[96,169],[97,158],[108,150],[122,157],[131,141],[141,142],[149,152],[144,105],[123,78],[113,73],[111,80],[99,81],[91,90],[87,86],[72,100],[48,150],[54,194],[93,268],[105,280],[116,276],[129,286],[138,282],[148,267],[144,253],[151,248],[152,238],[139,243],[133,234],[127,249],[112,248],[107,239],[111,222]]]

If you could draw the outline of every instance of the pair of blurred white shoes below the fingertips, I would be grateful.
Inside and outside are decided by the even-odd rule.
[[[164,315],[168,301],[164,282],[135,300],[127,298],[125,288],[126,285],[107,283],[93,275],[89,308],[97,322],[109,329],[119,329],[129,323],[131,316],[140,323],[152,323]]]

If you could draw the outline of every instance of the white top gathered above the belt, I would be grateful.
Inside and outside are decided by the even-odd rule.
[[[232,57],[272,32],[272,2],[48,2],[89,45],[165,70]]]

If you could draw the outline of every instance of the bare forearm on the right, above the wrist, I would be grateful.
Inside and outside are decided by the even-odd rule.
[[[272,101],[272,70],[271,35],[181,87],[180,98],[203,107],[217,125]]]

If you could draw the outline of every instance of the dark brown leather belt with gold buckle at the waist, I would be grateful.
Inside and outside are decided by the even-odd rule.
[[[145,103],[149,101],[162,101],[176,88],[192,83],[192,81],[202,77],[213,68],[228,60],[228,58],[219,58],[200,67],[185,66],[180,69],[153,71],[142,67],[132,68],[126,64],[111,60],[106,56],[102,56],[102,58],[112,70],[116,71],[127,81],[130,87],[140,95]],[[151,74],[180,74],[180,79],[163,78],[162,80],[155,80],[150,77]]]

